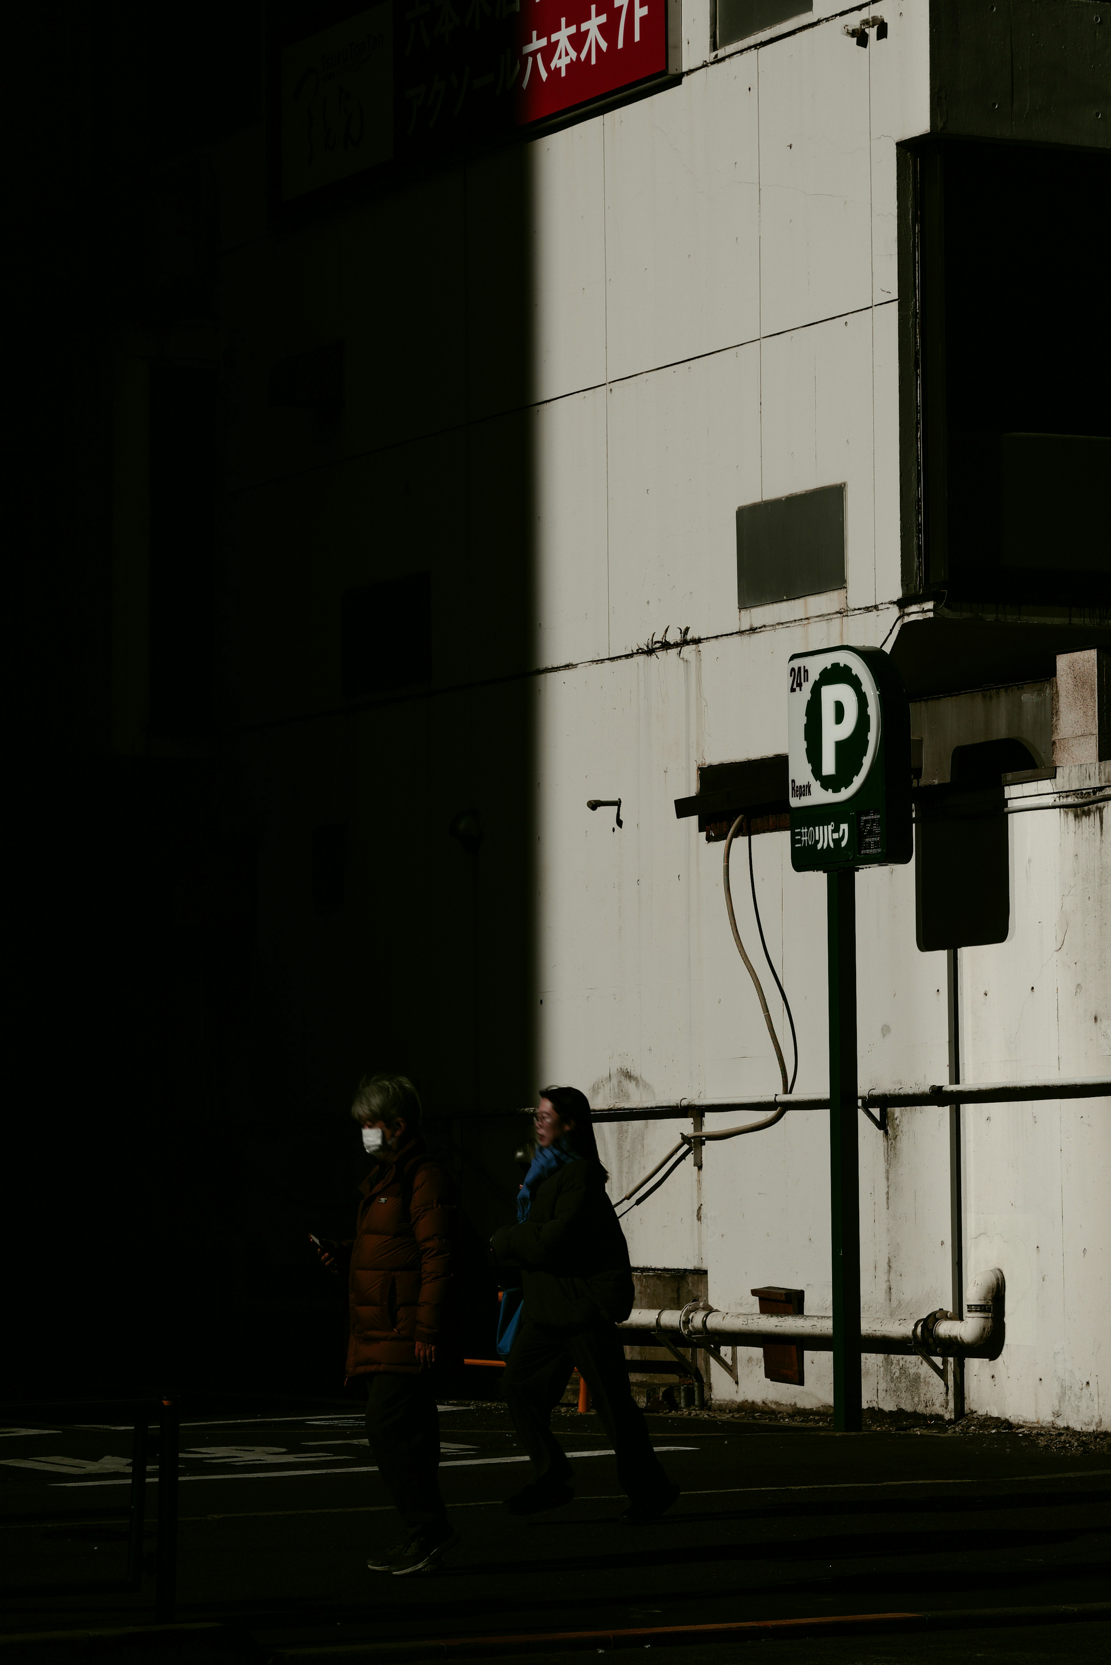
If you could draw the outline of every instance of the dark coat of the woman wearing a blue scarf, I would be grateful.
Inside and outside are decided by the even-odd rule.
[[[491,1249],[500,1270],[520,1270],[525,1317],[581,1329],[633,1310],[625,1232],[596,1162],[568,1162],[538,1187],[528,1219],[503,1225]]]

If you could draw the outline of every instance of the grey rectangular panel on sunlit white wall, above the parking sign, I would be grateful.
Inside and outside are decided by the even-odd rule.
[[[738,508],[738,608],[816,596],[843,584],[844,485]]]

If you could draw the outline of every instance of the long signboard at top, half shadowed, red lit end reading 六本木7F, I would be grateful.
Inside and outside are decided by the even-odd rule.
[[[273,37],[277,196],[451,155],[661,80],[678,72],[680,7],[373,0],[315,10]]]

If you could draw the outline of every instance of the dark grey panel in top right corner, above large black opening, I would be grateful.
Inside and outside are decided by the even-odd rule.
[[[1111,13],[1083,0],[931,0],[929,128],[1111,145]]]

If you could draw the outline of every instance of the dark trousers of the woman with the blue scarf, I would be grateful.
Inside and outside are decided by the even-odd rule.
[[[608,1322],[565,1330],[521,1319],[505,1372],[505,1397],[521,1445],[533,1460],[533,1482],[545,1485],[571,1475],[563,1447],[551,1434],[551,1412],[563,1399],[573,1367],[586,1380],[610,1435],[621,1485],[635,1503],[658,1497],[668,1477],[651,1449],[645,1414],[633,1402],[621,1337]]]

